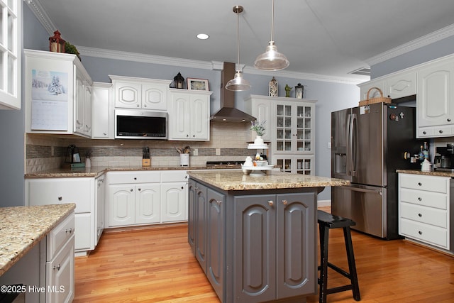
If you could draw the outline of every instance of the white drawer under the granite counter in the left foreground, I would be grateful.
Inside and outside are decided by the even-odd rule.
[[[50,261],[74,235],[74,213],[71,213],[60,224],[55,226],[47,236],[47,260]]]

